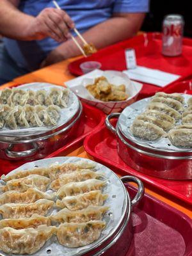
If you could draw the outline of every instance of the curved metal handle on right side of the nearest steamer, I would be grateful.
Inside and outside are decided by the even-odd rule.
[[[131,205],[134,206],[134,205],[138,204],[138,202],[141,200],[141,198],[143,197],[144,192],[145,192],[143,182],[141,182],[141,180],[138,179],[137,177],[129,176],[129,175],[122,177],[121,180],[124,183],[133,181],[138,185],[138,192],[136,193],[136,196],[134,196],[134,198],[132,199]]]

